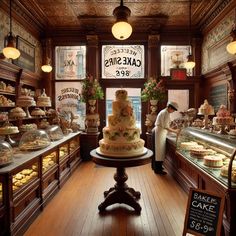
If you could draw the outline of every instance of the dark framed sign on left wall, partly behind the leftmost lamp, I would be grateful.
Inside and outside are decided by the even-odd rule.
[[[16,48],[20,51],[20,57],[13,60],[13,63],[21,68],[35,72],[35,46],[20,36],[17,36]]]

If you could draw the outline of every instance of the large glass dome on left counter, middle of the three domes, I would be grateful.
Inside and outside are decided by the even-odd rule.
[[[49,146],[51,140],[44,130],[29,130],[25,132],[21,139],[19,148],[20,150],[38,150]]]

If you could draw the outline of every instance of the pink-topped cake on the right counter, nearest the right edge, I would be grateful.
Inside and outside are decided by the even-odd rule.
[[[230,112],[225,105],[221,105],[216,113],[216,117],[213,117],[213,125],[230,125],[233,124],[234,119],[230,116]]]

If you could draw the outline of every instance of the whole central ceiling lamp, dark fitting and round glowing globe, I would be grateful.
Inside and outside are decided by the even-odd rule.
[[[113,15],[116,17],[116,23],[112,26],[112,34],[118,40],[125,40],[132,34],[132,26],[128,23],[128,17],[131,11],[124,6],[123,0],[120,1],[120,6],[116,7]]]

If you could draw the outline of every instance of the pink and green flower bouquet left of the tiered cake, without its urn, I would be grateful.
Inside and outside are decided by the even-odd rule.
[[[97,100],[104,98],[104,92],[97,79],[93,76],[86,76],[82,81],[82,91],[80,94],[80,101],[87,102],[88,100]]]

